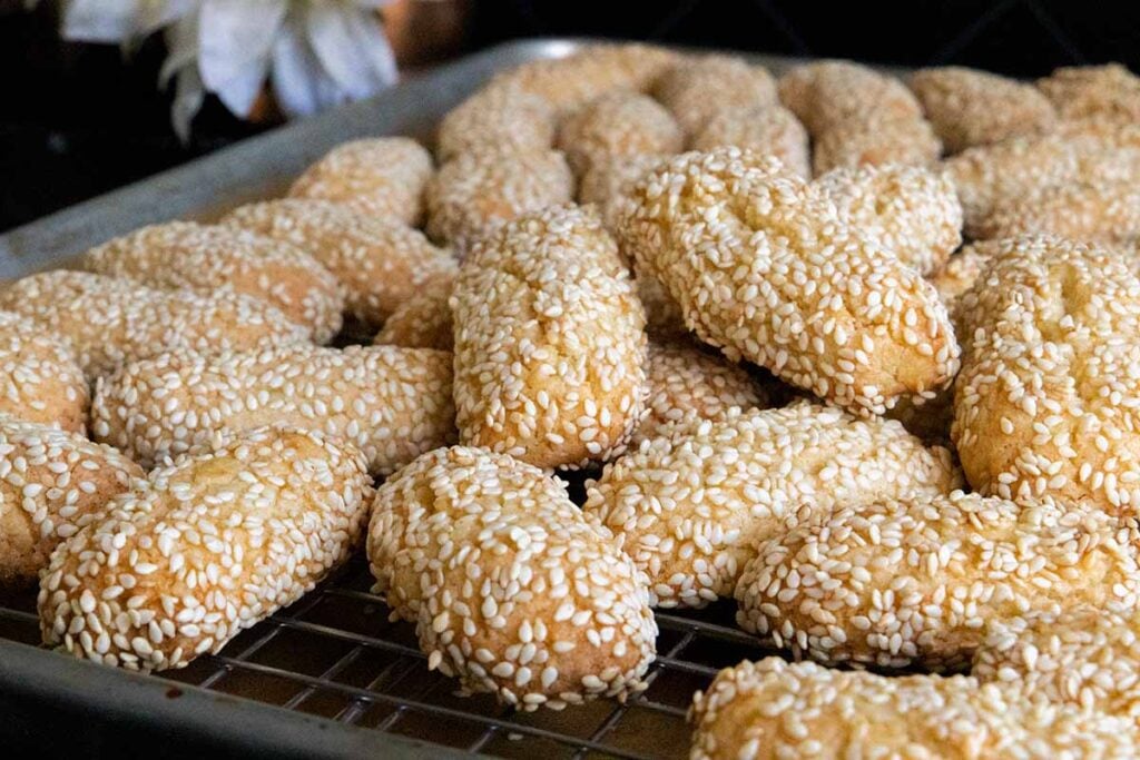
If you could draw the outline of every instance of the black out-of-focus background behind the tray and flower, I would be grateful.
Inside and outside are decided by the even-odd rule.
[[[28,14],[22,0],[0,0],[0,230],[268,128],[207,101],[180,145],[169,96],[156,90],[161,41],[130,60],[115,47],[64,43],[54,3],[41,5]],[[1107,60],[1140,68],[1140,3],[471,0],[466,30],[458,51],[595,35],[1018,76]]]

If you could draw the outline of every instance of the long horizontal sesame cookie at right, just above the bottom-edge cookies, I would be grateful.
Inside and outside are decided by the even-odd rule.
[[[796,659],[953,670],[991,622],[1140,600],[1135,528],[961,491],[841,506],[756,547],[736,622]]]

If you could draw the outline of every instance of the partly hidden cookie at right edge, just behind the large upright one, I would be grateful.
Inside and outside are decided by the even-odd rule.
[[[982,238],[1040,234],[1074,240],[1129,243],[1140,238],[1135,179],[1076,181],[995,205],[977,230]]]

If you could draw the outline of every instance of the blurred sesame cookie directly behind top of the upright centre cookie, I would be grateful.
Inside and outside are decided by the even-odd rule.
[[[570,166],[557,150],[465,153],[427,183],[427,234],[461,254],[515,216],[573,198]]]

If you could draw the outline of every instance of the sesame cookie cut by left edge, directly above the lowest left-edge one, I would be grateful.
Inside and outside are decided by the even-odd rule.
[[[0,311],[0,415],[82,434],[89,401],[71,344],[27,317]]]

